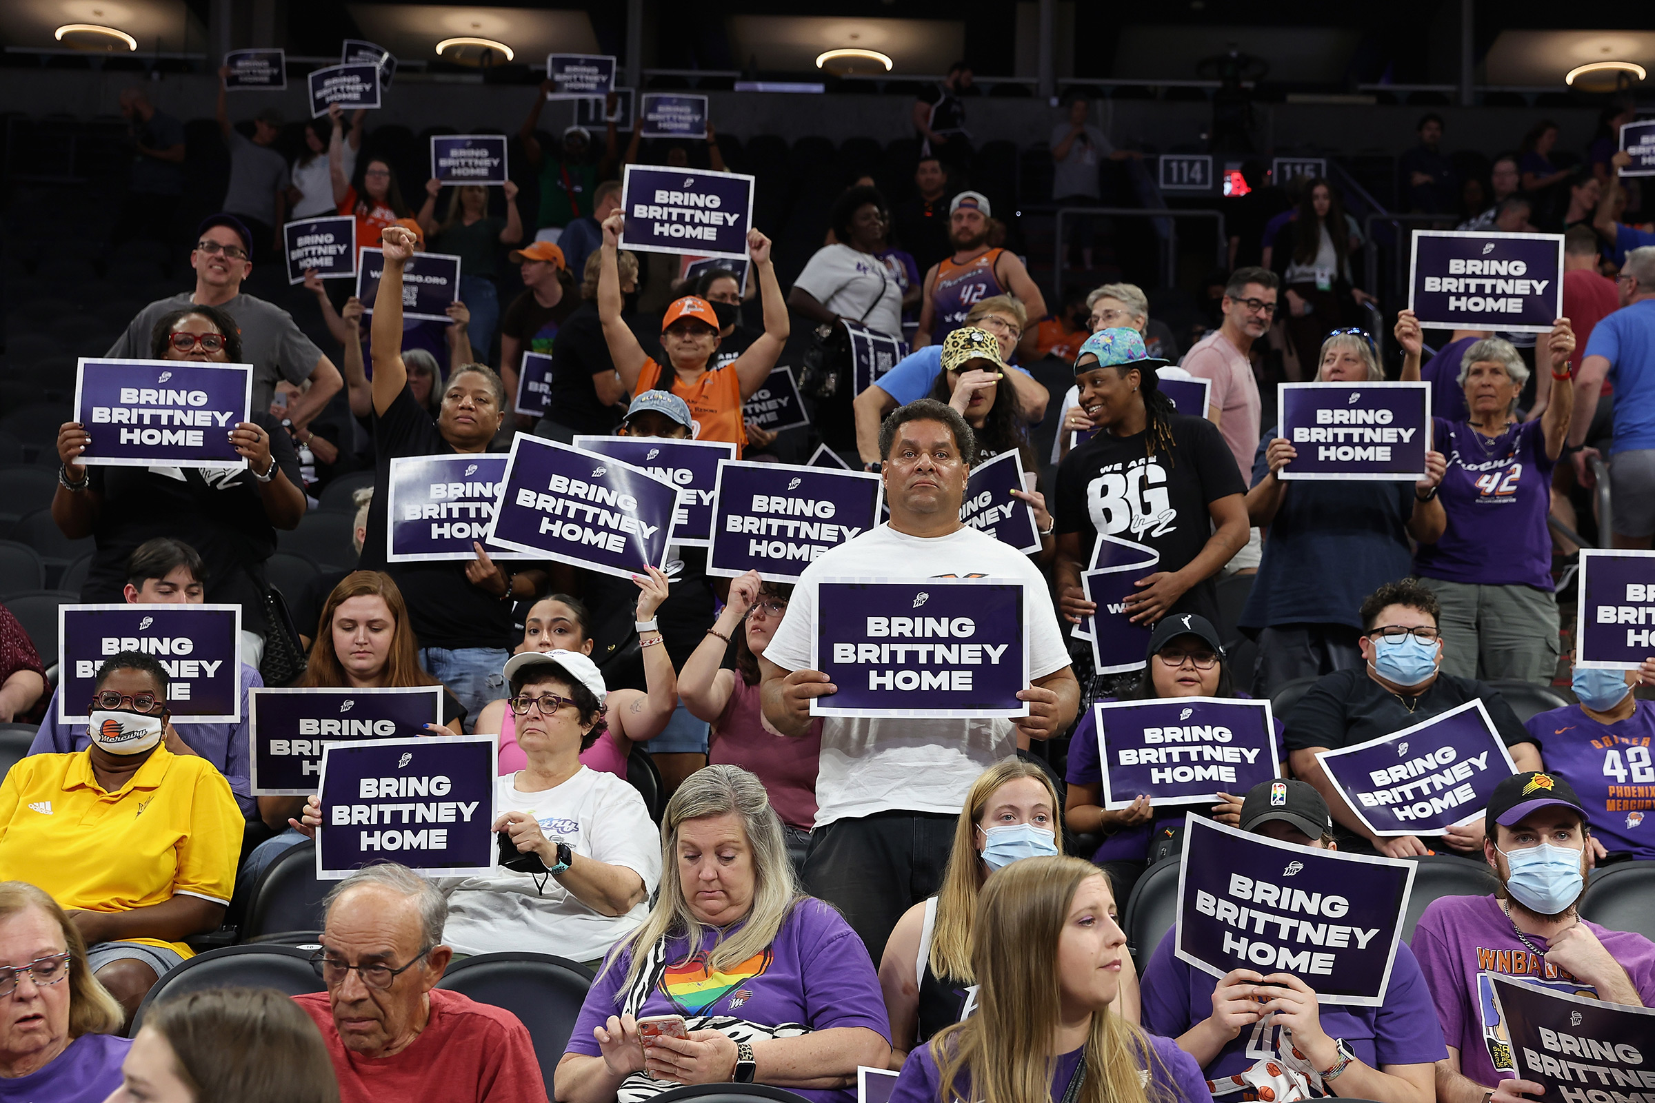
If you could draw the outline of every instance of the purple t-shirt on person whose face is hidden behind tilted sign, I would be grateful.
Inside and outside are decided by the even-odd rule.
[[[1180,961],[1173,953],[1177,929],[1167,931],[1150,956],[1139,981],[1144,1000],[1144,1029],[1170,1039],[1213,1014],[1213,989],[1218,977]],[[1346,1007],[1317,1004],[1322,1030],[1331,1039],[1344,1039],[1350,1052],[1370,1068],[1384,1065],[1427,1065],[1448,1057],[1443,1032],[1432,1014],[1432,992],[1420,976],[1420,962],[1405,943],[1397,944],[1397,961],[1390,969],[1385,1002],[1379,1007]],[[1258,1022],[1218,1050],[1202,1072],[1208,1080],[1221,1080],[1246,1072],[1266,1052],[1276,1053],[1273,1027]]]

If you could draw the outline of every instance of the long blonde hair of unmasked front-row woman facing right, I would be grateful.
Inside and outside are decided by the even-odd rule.
[[[1074,893],[1094,876],[1109,883],[1091,862],[1067,857],[1023,858],[988,876],[978,895],[971,949],[976,1014],[930,1040],[940,1103],[960,1098],[955,1082],[962,1073],[971,1080],[967,1103],[1051,1103],[1056,1058],[1046,1050],[1063,1002],[1058,939]],[[1150,1072],[1147,1082],[1139,1080],[1140,1070]],[[1107,1007],[1092,1012],[1079,1103],[1170,1103],[1165,1078],[1149,1035]]]

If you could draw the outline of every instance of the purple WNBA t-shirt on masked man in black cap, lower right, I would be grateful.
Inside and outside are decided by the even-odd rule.
[[[1648,1007],[1655,1000],[1655,943],[1630,931],[1582,923],[1627,971],[1638,999]],[[1541,953],[1546,951],[1544,938],[1526,938]],[[1485,1088],[1496,1086],[1503,1078],[1496,1075],[1490,1052],[1498,1050],[1508,1065],[1511,1053],[1506,1030],[1494,1014],[1488,972],[1524,977],[1569,996],[1597,997],[1590,984],[1531,954],[1493,895],[1433,900],[1413,929],[1413,954],[1432,989],[1443,1040],[1460,1050],[1460,1072]]]

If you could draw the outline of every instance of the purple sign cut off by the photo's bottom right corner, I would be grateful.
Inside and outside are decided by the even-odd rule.
[[[1494,1067],[1513,1078],[1546,1086],[1529,1100],[1630,1103],[1655,1091],[1655,1009],[1609,1004],[1498,972],[1483,976],[1493,984],[1494,1030],[1501,1035],[1490,1039],[1490,1053],[1508,1058]]]

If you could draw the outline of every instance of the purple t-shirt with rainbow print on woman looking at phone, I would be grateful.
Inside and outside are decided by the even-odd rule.
[[[705,944],[710,948],[717,936],[713,931]],[[867,948],[844,916],[809,896],[793,908],[770,949],[712,977],[705,953],[692,954],[684,936],[669,938],[639,974],[639,987],[647,984],[647,991],[637,999],[621,987],[631,959],[624,946],[611,951],[602,976],[581,1004],[569,1053],[602,1055],[592,1029],[619,1014],[684,1015],[692,1030],[722,1030],[738,1042],[834,1027],[867,1027],[890,1040],[890,1019]],[[660,1091],[679,1085],[632,1073],[622,1085],[622,1098],[650,1086]],[[816,1103],[856,1100],[856,1086],[789,1090]]]

